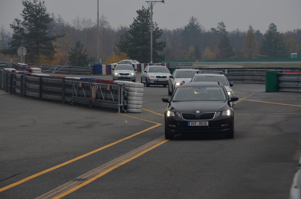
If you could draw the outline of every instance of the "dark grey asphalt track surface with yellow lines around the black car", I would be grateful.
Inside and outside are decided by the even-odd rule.
[[[163,86],[144,87],[142,113],[0,90],[0,198],[288,199],[301,154],[300,93],[238,83],[233,91],[234,139],[165,140]]]

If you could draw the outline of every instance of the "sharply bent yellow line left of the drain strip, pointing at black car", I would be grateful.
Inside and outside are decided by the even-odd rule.
[[[125,116],[128,116],[128,117],[132,117],[132,116],[129,116],[129,115],[126,115],[126,114],[122,114],[122,113],[118,113],[118,114],[125,115]],[[69,160],[69,161],[66,161],[66,162],[64,162],[64,163],[62,163],[62,164],[56,165],[56,166],[54,166],[54,167],[51,167],[51,168],[49,168],[49,169],[46,169],[46,170],[44,170],[44,171],[41,171],[41,172],[39,172],[39,173],[36,173],[36,174],[31,175],[31,176],[29,176],[29,177],[26,177],[26,178],[24,178],[24,179],[22,179],[22,180],[19,180],[19,181],[17,181],[17,182],[14,182],[14,183],[12,183],[12,184],[10,184],[10,185],[7,185],[7,186],[5,186],[5,187],[2,187],[2,188],[0,188],[0,192],[5,191],[5,190],[7,190],[7,189],[10,189],[10,188],[12,188],[12,187],[14,187],[14,186],[20,185],[20,184],[22,184],[23,182],[29,181],[29,180],[31,180],[31,179],[33,179],[33,178],[35,178],[35,177],[38,177],[38,176],[40,176],[40,175],[42,175],[42,174],[48,173],[48,172],[53,171],[53,170],[55,170],[55,169],[58,169],[58,168],[60,168],[60,167],[62,167],[62,166],[68,165],[68,164],[70,164],[70,163],[72,163],[72,162],[74,162],[74,161],[80,160],[80,159],[82,159],[82,158],[84,158],[84,157],[87,157],[87,156],[93,154],[93,153],[96,153],[96,152],[98,152],[98,151],[101,151],[101,150],[103,150],[103,149],[106,149],[106,148],[108,148],[108,147],[110,147],[110,146],[113,146],[113,145],[115,145],[115,144],[118,144],[118,143],[120,143],[120,142],[122,142],[122,141],[125,141],[125,140],[127,140],[127,139],[130,139],[131,137],[134,137],[134,136],[139,135],[139,134],[141,134],[141,133],[143,133],[143,132],[146,132],[146,131],[148,131],[148,130],[150,130],[150,129],[156,128],[157,126],[162,125],[162,124],[160,124],[160,123],[153,122],[153,121],[149,121],[149,120],[144,120],[144,119],[141,119],[141,118],[138,118],[138,117],[133,117],[133,118],[139,119],[139,120],[143,120],[143,121],[148,121],[148,122],[151,122],[151,123],[155,123],[156,125],[151,126],[151,127],[147,128],[147,129],[144,129],[144,130],[142,130],[142,131],[139,131],[138,133],[134,133],[134,134],[132,134],[132,135],[130,135],[130,136],[128,136],[128,137],[122,138],[122,139],[120,139],[120,140],[118,140],[118,141],[112,142],[112,143],[110,143],[110,144],[108,144],[108,145],[105,145],[105,146],[103,146],[103,147],[100,147],[100,148],[98,148],[98,149],[95,149],[95,150],[93,150],[93,151],[90,151],[89,153],[86,153],[86,154],[83,154],[83,155],[81,155],[81,156],[78,156],[78,157],[76,157],[76,158],[74,158],[74,159],[71,159],[71,160]]]

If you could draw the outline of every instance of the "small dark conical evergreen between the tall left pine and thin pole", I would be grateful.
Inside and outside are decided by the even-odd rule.
[[[69,52],[69,65],[70,66],[80,66],[85,67],[89,64],[87,59],[87,50],[83,49],[83,45],[78,42],[75,44],[75,48],[71,48]]]

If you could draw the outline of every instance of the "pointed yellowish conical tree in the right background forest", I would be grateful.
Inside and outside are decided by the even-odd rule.
[[[246,37],[243,41],[242,53],[247,59],[255,59],[258,57],[258,42],[255,38],[255,30],[250,25]]]

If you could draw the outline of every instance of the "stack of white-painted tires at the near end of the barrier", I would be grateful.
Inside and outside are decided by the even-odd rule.
[[[142,98],[144,85],[138,82],[127,81],[114,81],[114,83],[124,83],[127,113],[141,113],[142,111]]]

